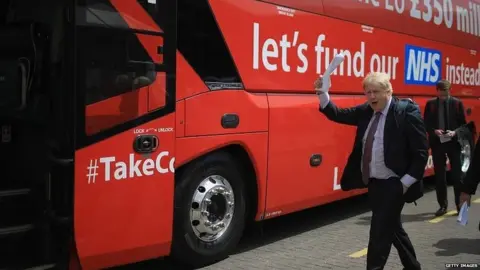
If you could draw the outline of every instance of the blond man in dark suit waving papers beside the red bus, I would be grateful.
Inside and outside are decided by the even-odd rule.
[[[411,202],[423,195],[421,180],[428,158],[425,125],[415,103],[392,96],[388,74],[370,73],[362,86],[367,102],[338,108],[328,90],[321,90],[322,78],[314,83],[320,112],[331,121],[357,127],[340,183],[342,190],[368,187],[372,220],[367,269],[383,269],[392,244],[405,269],[421,269],[400,216],[407,197]]]

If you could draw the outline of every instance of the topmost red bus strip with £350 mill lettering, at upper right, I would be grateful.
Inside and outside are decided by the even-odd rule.
[[[293,1],[292,6],[295,6]],[[359,24],[381,27],[395,32],[428,38],[443,43],[454,44],[463,48],[478,48],[477,27],[470,27],[462,21],[460,10],[468,12],[469,3],[475,0],[442,0],[442,1],[345,1],[323,0],[323,12],[327,16]],[[480,7],[480,2],[476,2]],[[372,14],[375,14],[372,16]],[[477,17],[475,13],[467,18]],[[473,18],[472,18],[473,19]],[[479,17],[480,19],[480,17]],[[435,21],[435,23],[434,23]],[[439,24],[437,24],[439,22]],[[475,23],[479,23],[475,20]],[[448,27],[448,25],[450,27]],[[472,24],[473,26],[473,24]],[[479,25],[480,26],[480,25]],[[459,29],[462,29],[461,31]],[[471,31],[474,35],[466,33]],[[480,30],[480,29],[479,29]]]

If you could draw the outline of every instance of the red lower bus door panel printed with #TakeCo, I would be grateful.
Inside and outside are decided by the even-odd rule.
[[[101,269],[170,252],[175,114],[75,153],[75,243],[83,269]],[[159,146],[134,152],[135,138],[157,128]]]

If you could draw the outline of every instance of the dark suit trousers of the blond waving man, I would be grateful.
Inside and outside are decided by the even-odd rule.
[[[392,244],[398,251],[404,269],[421,269],[415,249],[402,226],[401,213],[405,201],[399,178],[371,178],[368,196],[372,209],[367,270],[384,269]]]

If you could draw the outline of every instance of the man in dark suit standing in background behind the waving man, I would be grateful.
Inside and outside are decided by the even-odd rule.
[[[440,206],[435,215],[442,216],[448,209],[445,155],[448,156],[450,161],[455,205],[457,211],[459,210],[459,185],[462,171],[461,149],[457,140],[457,130],[466,124],[466,120],[462,101],[450,96],[450,82],[440,80],[436,84],[436,89],[438,96],[427,101],[424,119],[429,135],[430,148],[432,149],[437,201]]]

